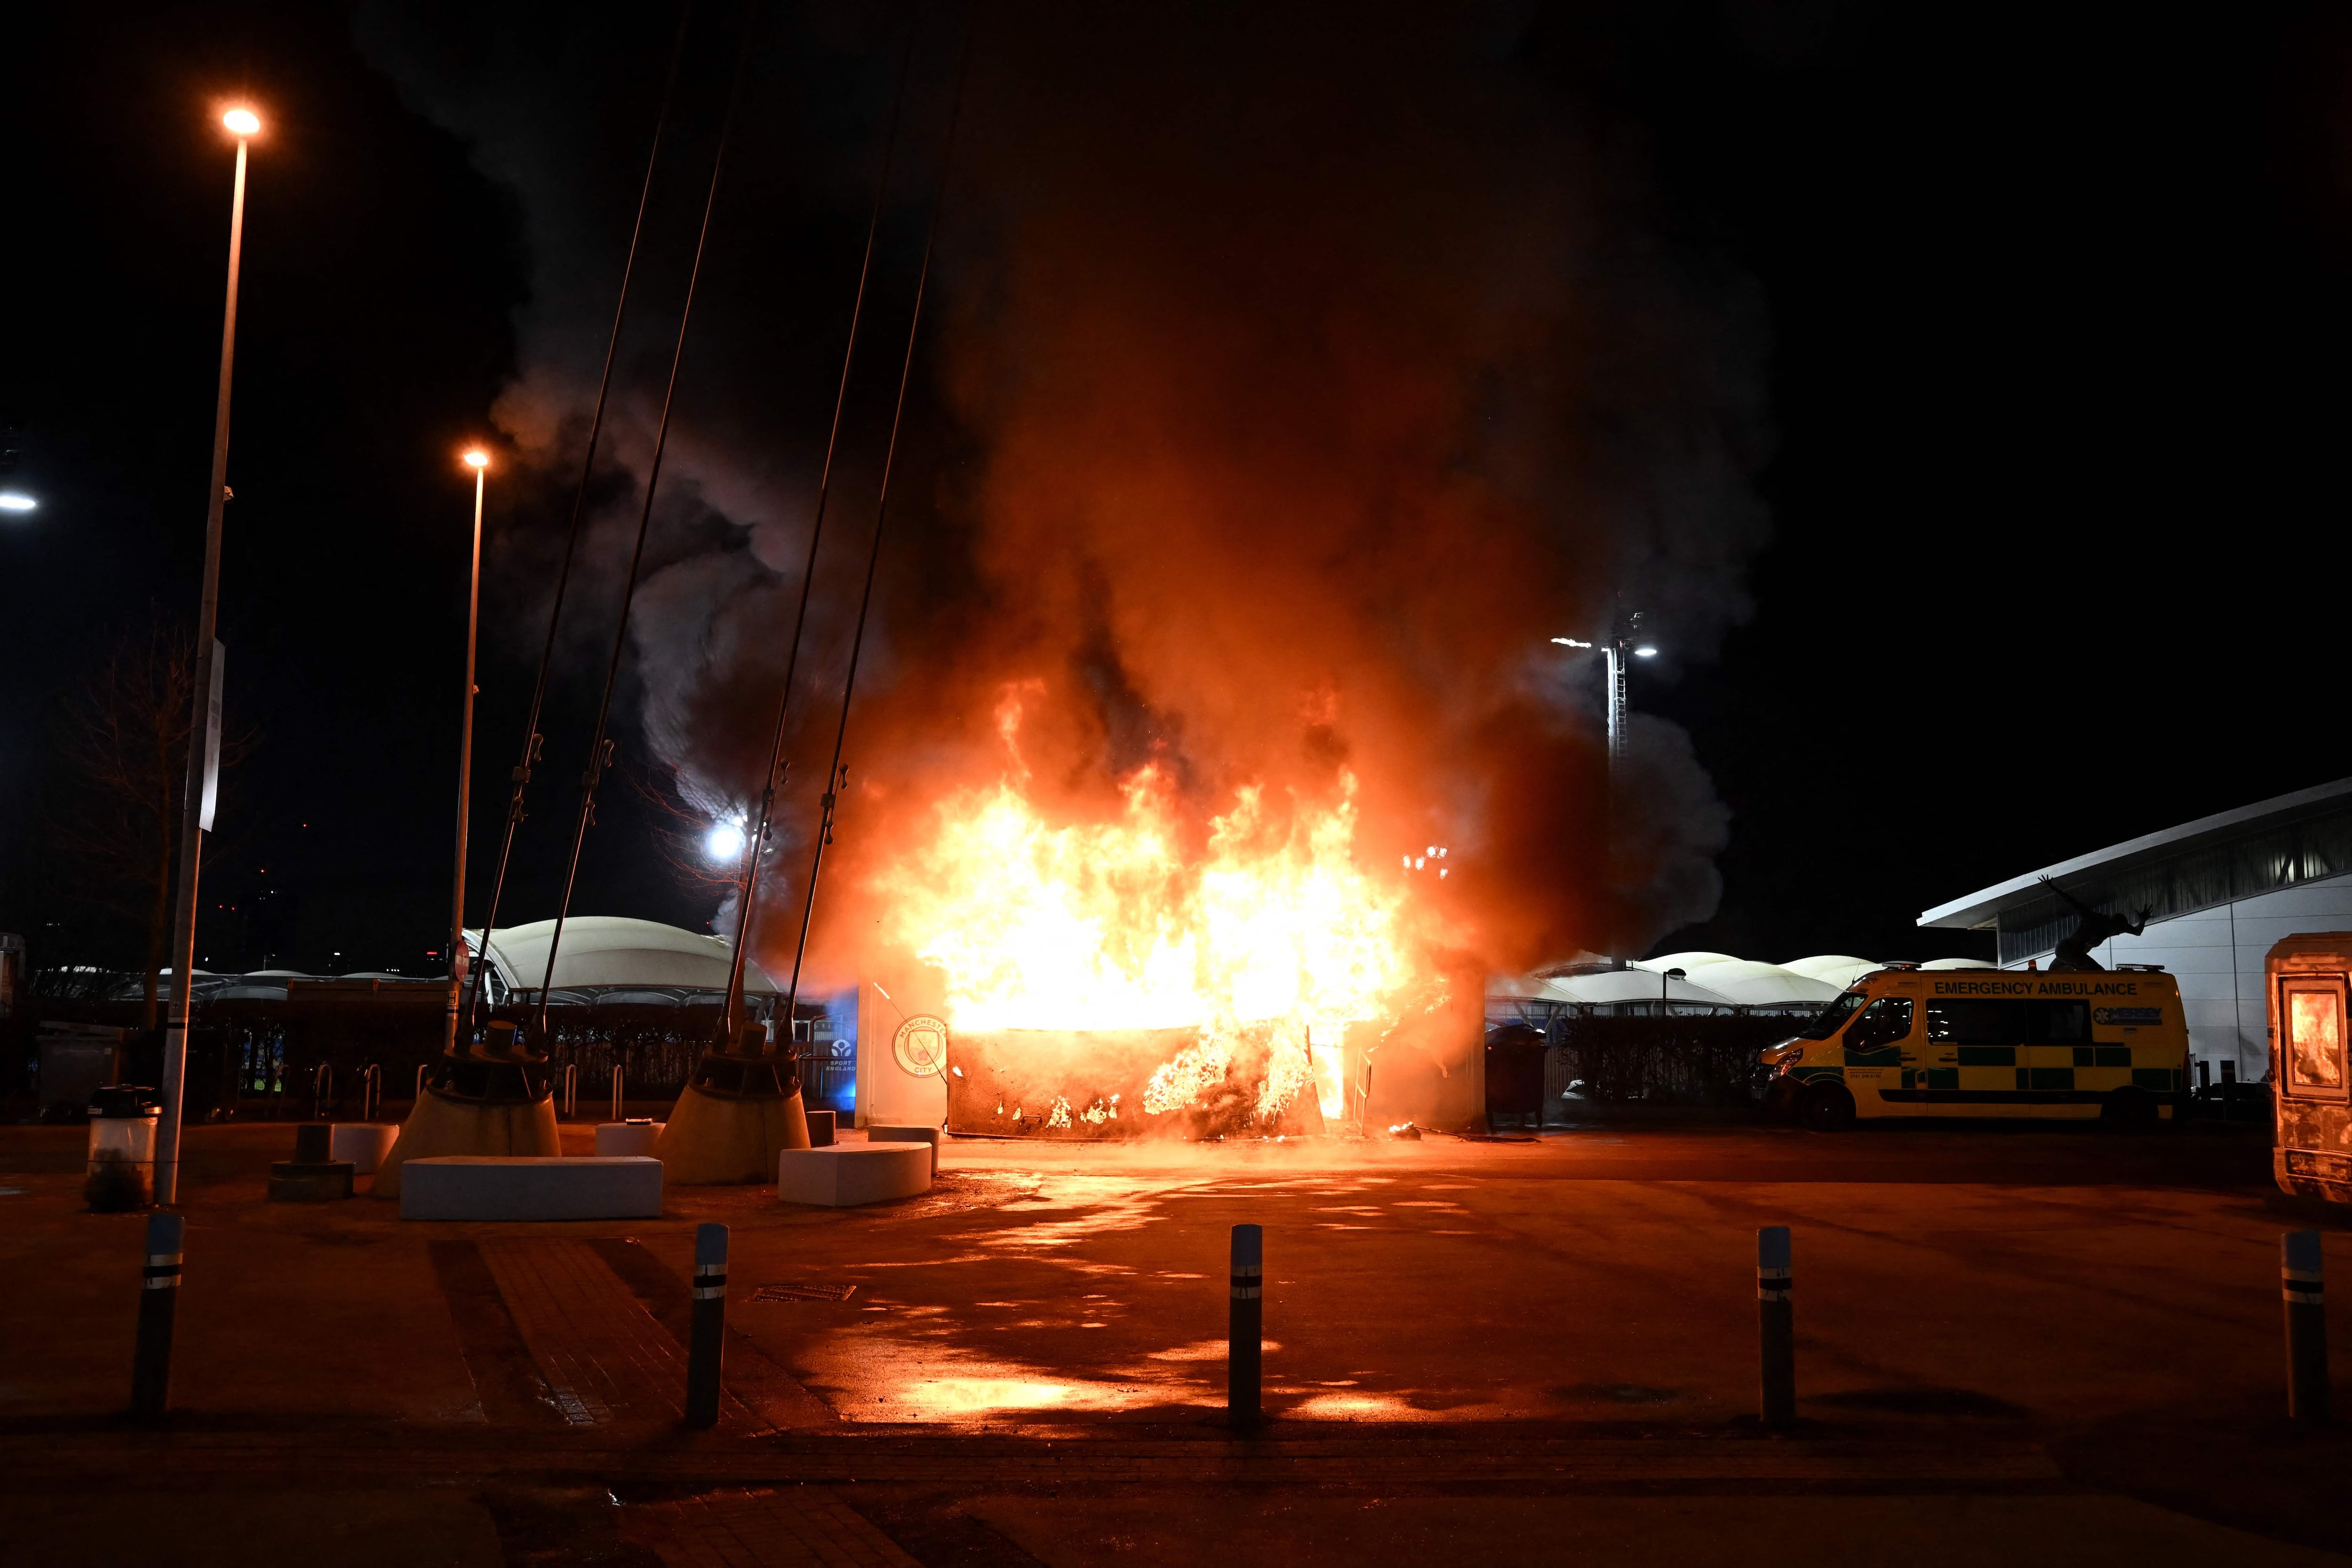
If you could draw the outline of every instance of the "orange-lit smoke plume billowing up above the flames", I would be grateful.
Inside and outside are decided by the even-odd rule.
[[[562,26],[555,63],[517,45],[461,66],[362,19],[414,101],[517,190],[541,289],[501,418],[550,475],[579,461],[609,313],[583,280],[616,277],[633,197],[612,172],[626,139],[567,139],[600,113],[567,92],[652,92],[579,63],[604,59],[612,19]],[[964,16],[920,26],[767,959],[797,933]],[[1240,785],[1312,804],[1352,776],[1364,853],[1449,846],[1444,924],[1494,969],[1639,950],[1712,914],[1726,811],[1689,736],[1637,717],[1611,788],[1599,670],[1550,639],[1639,609],[1693,661],[1745,614],[1762,331],[1745,284],[1679,254],[1599,155],[1534,16],[1033,0],[971,26],[821,966],[854,971],[875,919],[861,889],[941,792],[1009,766],[1009,691],[1018,766],[1070,818],[1112,811],[1143,764],[1202,820]],[[694,811],[755,792],[894,66],[873,19],[783,16],[729,153],[746,174],[633,621],[637,736]],[[790,99],[818,80],[814,108]],[[576,172],[590,146],[612,167]],[[659,393],[633,367],[600,585]],[[508,571],[543,574],[557,529],[550,508]],[[609,635],[597,616],[581,649]]]

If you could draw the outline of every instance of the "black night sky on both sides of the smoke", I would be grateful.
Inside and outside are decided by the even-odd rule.
[[[546,21],[381,9],[506,47]],[[579,146],[581,179],[633,190],[670,12],[597,26],[567,33],[595,40],[569,80],[609,125]],[[786,56],[795,38],[861,49],[823,7],[762,26]],[[1632,682],[1637,708],[1691,731],[1733,813],[1722,912],[1658,950],[1983,957],[1990,938],[1917,933],[1915,914],[2352,773],[2328,705],[2352,19],[1628,2],[1545,7],[1522,49],[1646,228],[1769,334],[1752,609],[1717,654],[1668,646]],[[230,179],[214,127],[249,94],[270,132],[221,637],[254,750],[207,851],[200,957],[423,973],[445,940],[456,773],[456,451],[492,433],[517,369],[522,207],[336,7],[42,7],[9,54],[0,416],[21,447],[7,482],[40,510],[0,517],[0,929],[35,964],[139,947],[42,870],[49,736],[59,696],[125,632],[193,621]],[[809,106],[776,148],[821,148],[835,122],[873,134],[858,110],[887,61],[866,54],[849,85],[764,82]],[[689,75],[713,61],[724,47]],[[861,237],[854,183],[793,167],[750,179],[800,214],[786,228],[807,247],[729,261],[769,268],[783,296],[837,280]],[[722,310],[710,331],[729,329]],[[943,461],[953,442],[915,449]],[[543,541],[562,505],[557,484],[492,477],[477,877],[541,632],[527,578],[543,555],[499,541],[524,524]],[[588,621],[609,625],[609,604]],[[595,670],[567,665],[517,917],[553,903],[593,691]],[[656,844],[668,818],[630,788],[652,769],[621,733],[626,778],[574,907],[701,926],[710,886]]]

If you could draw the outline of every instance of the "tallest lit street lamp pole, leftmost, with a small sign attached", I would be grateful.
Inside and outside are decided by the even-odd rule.
[[[245,249],[245,143],[261,115],[242,103],[221,115],[238,139],[228,197],[228,301],[221,306],[221,395],[212,411],[212,494],[205,501],[205,592],[195,616],[195,712],[188,719],[188,778],[179,802],[179,886],[172,912],[172,1011],[162,1025],[162,1117],[155,1126],[155,1201],[179,1201],[181,1086],[188,1077],[188,1016],[195,1011],[195,896],[221,759],[221,508],[228,501],[228,371],[238,357],[238,261]]]

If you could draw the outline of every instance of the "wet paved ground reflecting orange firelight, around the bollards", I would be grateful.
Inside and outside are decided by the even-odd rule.
[[[2307,1220],[2258,1135],[955,1143],[887,1208],[673,1190],[659,1222],[548,1227],[266,1204],[289,1143],[191,1135],[176,1413],[134,1432],[143,1220],[82,1213],[73,1131],[0,1128],[0,1537],[28,1561],[2352,1552],[2352,1443],[2279,1420],[2277,1234]],[[687,1434],[699,1220],[734,1227],[731,1338],[720,1429]],[[1242,1220],[1275,1420],[1237,1441]],[[1771,1222],[1792,1436],[1752,1422]]]

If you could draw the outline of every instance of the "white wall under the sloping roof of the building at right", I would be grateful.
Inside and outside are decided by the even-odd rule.
[[[2263,959],[2279,938],[2307,931],[2352,931],[2352,877],[2305,882],[2218,910],[2152,922],[2140,936],[2103,943],[2096,957],[2110,969],[2161,964],[2180,980],[2190,1056],[2213,1063],[2216,1079],[2220,1063],[2232,1060],[2237,1077],[2260,1079],[2270,1072]]]

